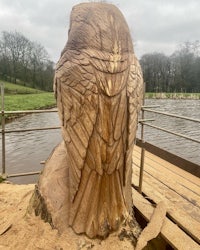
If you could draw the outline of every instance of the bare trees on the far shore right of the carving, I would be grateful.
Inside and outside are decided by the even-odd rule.
[[[200,92],[200,42],[185,42],[172,55],[144,54],[140,60],[147,92]]]

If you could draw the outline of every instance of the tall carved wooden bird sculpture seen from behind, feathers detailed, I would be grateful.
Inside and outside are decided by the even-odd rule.
[[[69,171],[68,223],[76,233],[104,237],[131,214],[143,96],[129,28],[114,5],[73,8],[54,90]]]

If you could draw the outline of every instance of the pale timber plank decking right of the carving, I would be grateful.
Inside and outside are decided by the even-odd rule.
[[[133,180],[139,185],[141,148],[133,153]],[[179,167],[145,152],[143,196],[133,189],[133,203],[148,221],[156,204],[164,201],[167,216],[162,237],[175,249],[200,249],[200,179]]]

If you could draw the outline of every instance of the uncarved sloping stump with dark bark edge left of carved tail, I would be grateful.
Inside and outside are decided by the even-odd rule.
[[[68,227],[68,165],[61,142],[49,156],[30,200],[29,212],[49,222],[59,232]]]

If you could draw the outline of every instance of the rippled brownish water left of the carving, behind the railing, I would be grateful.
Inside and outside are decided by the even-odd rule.
[[[58,126],[57,113],[30,114],[6,124],[6,129],[26,129]],[[40,171],[41,161],[48,158],[61,141],[60,130],[30,131],[6,134],[6,172],[24,173]],[[1,145],[0,145],[1,150]],[[16,183],[33,183],[38,176],[17,177]]]

